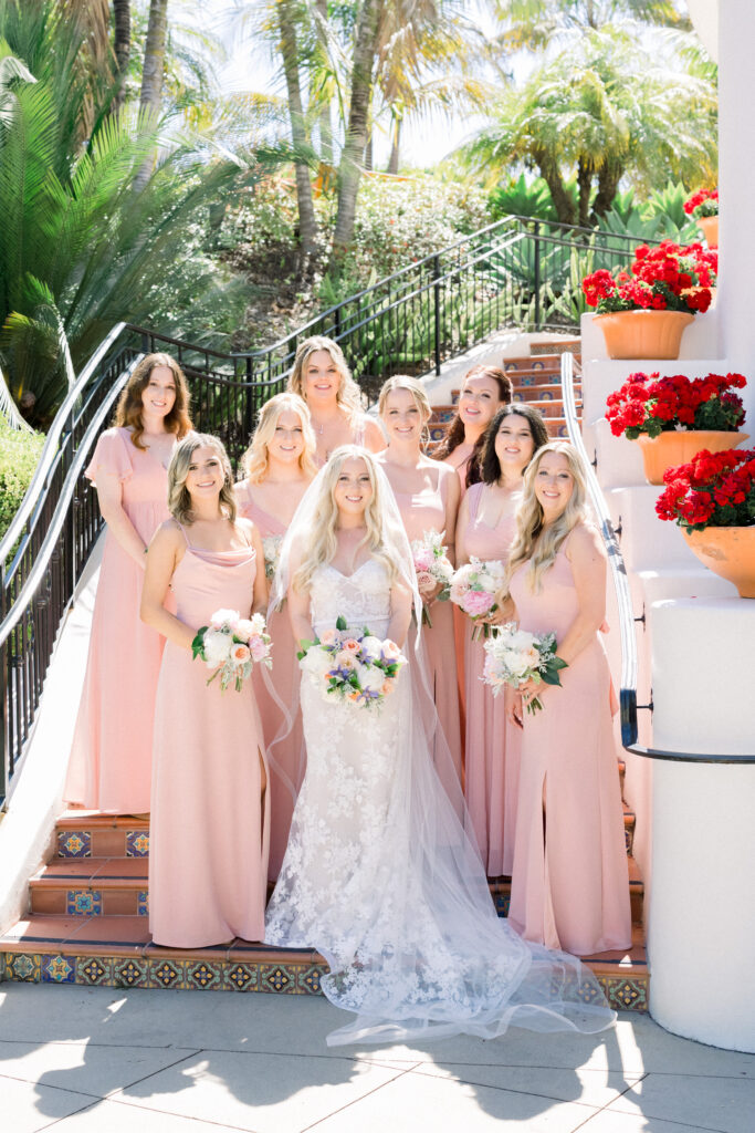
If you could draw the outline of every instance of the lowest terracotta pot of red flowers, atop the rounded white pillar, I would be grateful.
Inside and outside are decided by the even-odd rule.
[[[741,598],[755,598],[755,450],[704,450],[663,479],[659,518],[684,528],[700,561]]]

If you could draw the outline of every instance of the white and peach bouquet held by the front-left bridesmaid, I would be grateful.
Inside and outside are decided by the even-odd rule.
[[[233,681],[240,692],[243,681],[251,675],[254,665],[273,667],[271,637],[265,632],[261,614],[241,617],[238,610],[216,610],[209,625],[203,625],[191,642],[191,656],[212,668],[207,679],[212,684],[220,676],[221,691]]]

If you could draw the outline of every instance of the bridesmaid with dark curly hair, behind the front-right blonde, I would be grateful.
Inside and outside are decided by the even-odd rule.
[[[514,539],[514,517],[522,501],[522,474],[547,443],[546,425],[537,409],[522,401],[498,410],[482,449],[482,480],[471,486],[458,512],[460,563],[473,555],[506,561]],[[520,736],[507,726],[504,698],[494,697],[482,683],[483,642],[472,640],[474,623],[462,616],[466,682],[464,793],[488,877],[508,876],[514,859]]]

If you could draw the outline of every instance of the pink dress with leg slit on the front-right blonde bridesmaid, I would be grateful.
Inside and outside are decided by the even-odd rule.
[[[578,612],[564,545],[538,594],[526,572],[523,563],[512,578],[520,625],[555,631],[558,642]],[[560,678],[542,712],[525,713],[508,919],[527,940],[590,956],[632,943],[611,682],[598,633]]]

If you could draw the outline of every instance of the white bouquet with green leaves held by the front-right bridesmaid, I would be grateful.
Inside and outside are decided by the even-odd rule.
[[[520,689],[527,681],[535,684],[560,684],[560,668],[567,664],[556,655],[555,633],[530,633],[520,630],[514,622],[495,628],[495,634],[484,642],[486,651],[482,680],[492,689],[494,697],[506,684]],[[527,712],[542,708],[538,697],[526,705]]]

